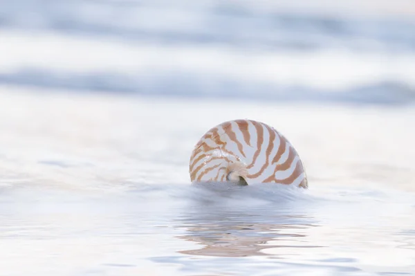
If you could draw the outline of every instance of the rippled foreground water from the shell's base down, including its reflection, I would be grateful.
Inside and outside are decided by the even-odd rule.
[[[137,186],[115,196],[3,192],[4,275],[414,271],[414,195]]]

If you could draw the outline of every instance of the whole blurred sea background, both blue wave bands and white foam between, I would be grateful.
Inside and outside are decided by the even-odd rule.
[[[267,1],[0,0],[0,85],[412,104],[415,20]]]

